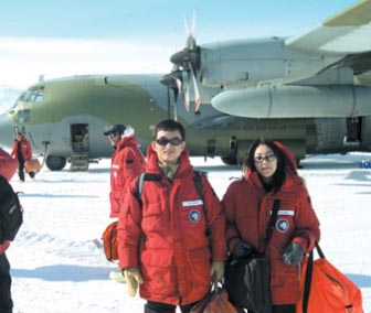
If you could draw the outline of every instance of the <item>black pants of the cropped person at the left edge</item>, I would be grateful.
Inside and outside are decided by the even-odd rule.
[[[10,285],[10,265],[6,253],[2,253],[0,255],[0,313],[11,313],[13,310]]]

